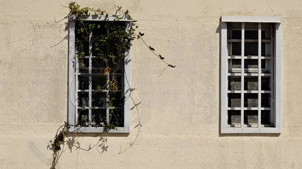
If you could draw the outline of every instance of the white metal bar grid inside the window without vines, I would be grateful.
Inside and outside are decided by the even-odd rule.
[[[244,43],[246,42],[246,40],[244,40],[244,33],[245,30],[252,30],[252,29],[245,29],[245,27],[243,26],[244,23],[242,23],[242,39],[239,40],[238,42],[241,42],[242,43],[242,56],[244,56]],[[272,124],[261,124],[261,110],[270,110],[270,121],[273,120],[273,64],[271,64],[270,62],[273,62],[273,57],[272,57],[272,43],[273,43],[273,39],[272,39],[272,27],[269,27],[270,30],[267,30],[266,28],[261,28],[261,23],[258,23],[258,39],[255,40],[255,42],[258,42],[258,56],[252,56],[252,57],[249,57],[249,56],[228,56],[228,59],[241,59],[242,62],[244,62],[244,59],[258,59],[258,69],[257,69],[257,73],[244,73],[244,71],[246,70],[244,68],[244,65],[242,65],[242,69],[239,70],[238,73],[228,73],[228,76],[241,76],[242,78],[242,85],[244,85],[244,77],[245,76],[258,76],[258,90],[252,90],[252,91],[249,91],[249,90],[236,90],[236,91],[232,91],[232,90],[228,90],[227,92],[228,93],[241,93],[242,96],[242,99],[241,101],[244,103],[244,94],[242,93],[258,93],[258,107],[244,107],[244,104],[239,108],[237,107],[229,107],[228,110],[241,110],[241,117],[244,119],[244,110],[257,110],[258,111],[258,128],[261,128],[261,127],[266,127],[266,126],[271,126]],[[230,30],[234,30],[234,29],[230,29]],[[253,29],[255,30],[255,29]],[[262,37],[261,37],[261,34],[263,31],[265,30],[265,38],[266,40],[262,40]],[[230,37],[232,38],[232,31],[230,31]],[[269,40],[267,40],[267,38],[270,38]],[[228,41],[229,42],[229,41]],[[265,43],[265,56],[262,56],[261,55],[261,43],[264,42]],[[230,44],[230,50],[232,50],[232,43]],[[231,51],[232,52],[232,51]],[[265,69],[262,69],[261,67],[261,61],[262,59],[266,59],[266,62],[265,62]],[[231,66],[230,66],[231,64]],[[229,68],[232,67],[232,63],[229,63]],[[237,70],[237,69],[236,69]],[[262,73],[262,70],[267,70],[269,71],[269,73]],[[234,71],[232,71],[234,72]],[[244,76],[242,76],[242,73]],[[267,91],[267,90],[261,90],[261,78],[263,76],[269,76],[270,77],[270,91]],[[244,86],[242,86],[242,88],[244,88]],[[243,92],[242,92],[243,91]],[[271,98],[270,98],[270,102],[271,102],[271,106],[269,108],[267,107],[261,107],[261,93],[270,93],[271,95]],[[238,125],[232,125],[232,126],[238,126]],[[244,124],[244,121],[242,121],[242,124],[241,124],[242,127],[247,127],[247,125]],[[251,125],[253,127],[253,125]],[[254,125],[256,127],[256,125]]]

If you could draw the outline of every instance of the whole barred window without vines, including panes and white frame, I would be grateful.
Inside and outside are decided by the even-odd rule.
[[[281,19],[221,17],[220,132],[281,132]]]

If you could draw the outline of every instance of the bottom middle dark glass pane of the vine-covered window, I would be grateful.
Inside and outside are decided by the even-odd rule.
[[[91,126],[103,127],[106,123],[106,109],[91,110]]]

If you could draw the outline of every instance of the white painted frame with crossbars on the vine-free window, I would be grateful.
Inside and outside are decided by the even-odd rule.
[[[228,56],[228,23],[241,22],[242,23],[242,39],[241,42],[241,56]],[[245,41],[245,23],[255,22],[258,23],[258,56],[244,56],[244,41]],[[261,23],[274,23],[271,27],[270,40],[261,39]],[[280,133],[281,132],[281,18],[279,17],[221,17],[221,32],[220,32],[220,132],[221,133]],[[272,34],[273,33],[273,34]],[[253,41],[253,40],[249,40]],[[234,41],[235,42],[235,41]],[[237,41],[236,41],[237,42]],[[261,42],[270,43],[270,57],[261,56]],[[272,45],[272,43],[274,45]],[[267,46],[266,46],[267,47]],[[267,49],[267,48],[266,48]],[[253,58],[252,58],[253,57]],[[241,72],[229,73],[228,59],[241,59]],[[258,72],[245,73],[244,60],[245,59],[258,59]],[[261,59],[269,59],[270,64],[266,69],[270,69],[270,73],[261,73]],[[228,76],[241,77],[241,90],[229,91],[228,90]],[[245,76],[258,76],[258,90],[245,91],[244,90],[244,77]],[[261,90],[261,77],[270,77],[270,91]],[[241,93],[241,107],[228,107],[228,93]],[[258,93],[258,107],[244,107],[244,93]],[[261,94],[270,94],[270,107],[261,107]],[[228,110],[240,110],[241,124],[236,127],[228,126]],[[244,110],[257,110],[258,111],[258,124],[252,127],[247,127],[244,124]],[[271,125],[261,124],[261,110],[270,110]]]

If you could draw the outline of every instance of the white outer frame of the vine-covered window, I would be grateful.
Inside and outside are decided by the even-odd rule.
[[[120,16],[119,16],[120,17]],[[77,80],[76,78],[78,76],[77,74],[77,65],[79,66],[78,59],[75,56],[76,50],[75,50],[75,16],[71,15],[69,18],[69,37],[68,37],[68,45],[69,45],[69,52],[68,52],[68,60],[69,60],[69,66],[68,66],[68,123],[71,125],[77,124],[77,114],[75,113],[75,109],[78,109],[77,106]],[[82,16],[82,18],[85,21],[99,21],[104,22],[105,17],[104,16],[95,16],[95,15],[88,15],[88,16]],[[127,16],[122,16],[123,19],[120,19],[119,21],[116,21],[116,18],[113,16],[109,16],[106,21],[115,21],[115,22],[125,22],[126,30],[128,31],[130,29],[130,20],[127,18]],[[90,44],[90,62],[91,61],[91,46]],[[130,116],[130,50],[125,50],[125,58],[124,58],[124,127],[117,127],[117,130],[109,130],[106,132],[109,133],[129,133],[130,132],[130,126],[129,126],[129,116]],[[90,63],[91,65],[91,63]],[[90,93],[91,93],[91,87],[90,87]],[[91,99],[90,99],[91,102]],[[91,106],[91,103],[89,104]],[[89,112],[91,117],[91,111]],[[107,118],[108,118],[108,112],[107,112]],[[90,119],[91,120],[91,119]],[[83,132],[83,133],[102,133],[104,132],[104,127],[73,127],[70,126],[68,129],[68,132]]]

